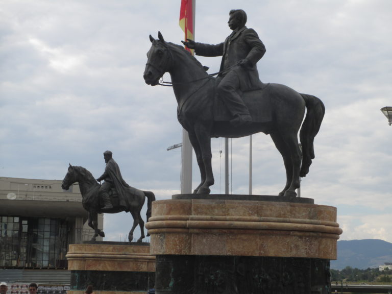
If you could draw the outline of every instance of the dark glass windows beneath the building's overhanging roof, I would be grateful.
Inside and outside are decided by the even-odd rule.
[[[68,227],[61,218],[0,216],[0,266],[66,267]]]

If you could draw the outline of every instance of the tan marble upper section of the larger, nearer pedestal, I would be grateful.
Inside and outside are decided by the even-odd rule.
[[[342,230],[335,207],[302,198],[188,195],[153,202],[151,254],[336,259]]]

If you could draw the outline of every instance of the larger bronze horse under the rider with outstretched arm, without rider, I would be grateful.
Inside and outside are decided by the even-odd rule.
[[[216,79],[207,74],[202,64],[182,46],[166,42],[160,32],[157,40],[151,35],[150,40],[144,81],[155,86],[165,72],[170,74],[178,119],[189,134],[200,168],[201,183],[194,193],[209,193],[214,184],[211,137],[235,138],[263,132],[271,135],[286,168],[286,185],[279,195],[296,197],[300,176],[305,177],[314,158],[313,140],[324,117],[323,102],[281,84],[267,84],[263,89],[243,93],[254,122],[234,127],[230,118],[216,119],[216,111],[221,108],[216,107]],[[302,158],[297,138],[301,124]]]

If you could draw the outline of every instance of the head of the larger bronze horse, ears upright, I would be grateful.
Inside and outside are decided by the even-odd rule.
[[[161,32],[158,32],[158,40],[150,35],[150,41],[152,45],[149,52],[147,52],[147,63],[145,64],[143,78],[146,84],[156,86],[163,74],[169,70],[170,51]]]

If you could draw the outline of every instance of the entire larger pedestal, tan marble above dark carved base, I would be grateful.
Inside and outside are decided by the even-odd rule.
[[[174,195],[146,224],[156,293],[329,293],[341,229],[312,199]]]

